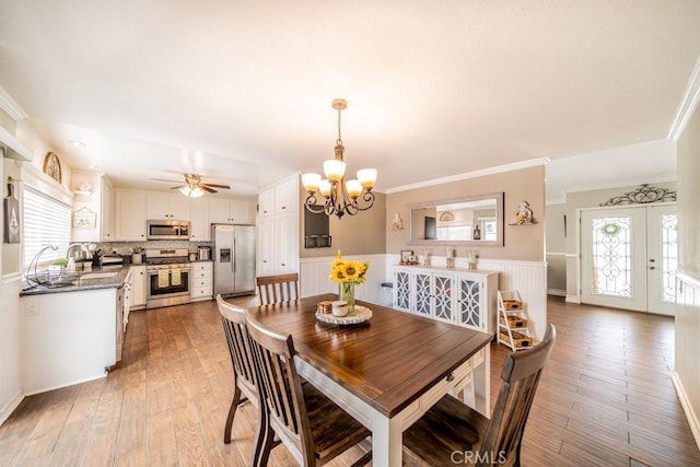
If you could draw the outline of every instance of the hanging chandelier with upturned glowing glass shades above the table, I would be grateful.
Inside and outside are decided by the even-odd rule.
[[[306,197],[306,209],[319,214],[336,214],[338,219],[345,214],[354,215],[359,211],[366,211],[374,206],[374,194],[372,188],[376,183],[376,168],[363,168],[358,171],[358,178],[346,182],[346,163],[342,153],[346,148],[342,145],[340,137],[340,112],[348,107],[348,103],[342,98],[332,101],[332,108],[338,110],[338,139],[336,140],[336,157],[324,161],[324,174],[322,179],[318,174],[302,174],[302,184],[308,194]],[[323,196],[323,205],[316,198],[316,192]],[[363,203],[360,205],[358,198],[362,195]]]

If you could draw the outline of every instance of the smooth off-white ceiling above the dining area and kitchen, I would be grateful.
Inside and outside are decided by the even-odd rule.
[[[696,0],[0,2],[0,86],[117,186],[191,171],[252,195],[318,172],[335,97],[349,168],[380,189],[563,163],[665,139],[699,55]],[[627,157],[548,178],[675,171]]]

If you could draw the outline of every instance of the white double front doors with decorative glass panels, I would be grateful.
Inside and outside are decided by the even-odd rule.
[[[675,205],[581,212],[581,301],[674,314],[677,268]]]

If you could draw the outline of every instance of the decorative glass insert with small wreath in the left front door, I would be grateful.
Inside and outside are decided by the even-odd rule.
[[[595,294],[632,296],[631,220],[596,218],[591,223],[592,290]]]

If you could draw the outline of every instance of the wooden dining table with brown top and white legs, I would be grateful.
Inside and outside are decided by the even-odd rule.
[[[400,466],[402,432],[447,393],[489,416],[492,335],[373,303],[362,324],[316,318],[334,294],[250,308],[292,335],[299,373],[372,432],[375,466]]]

